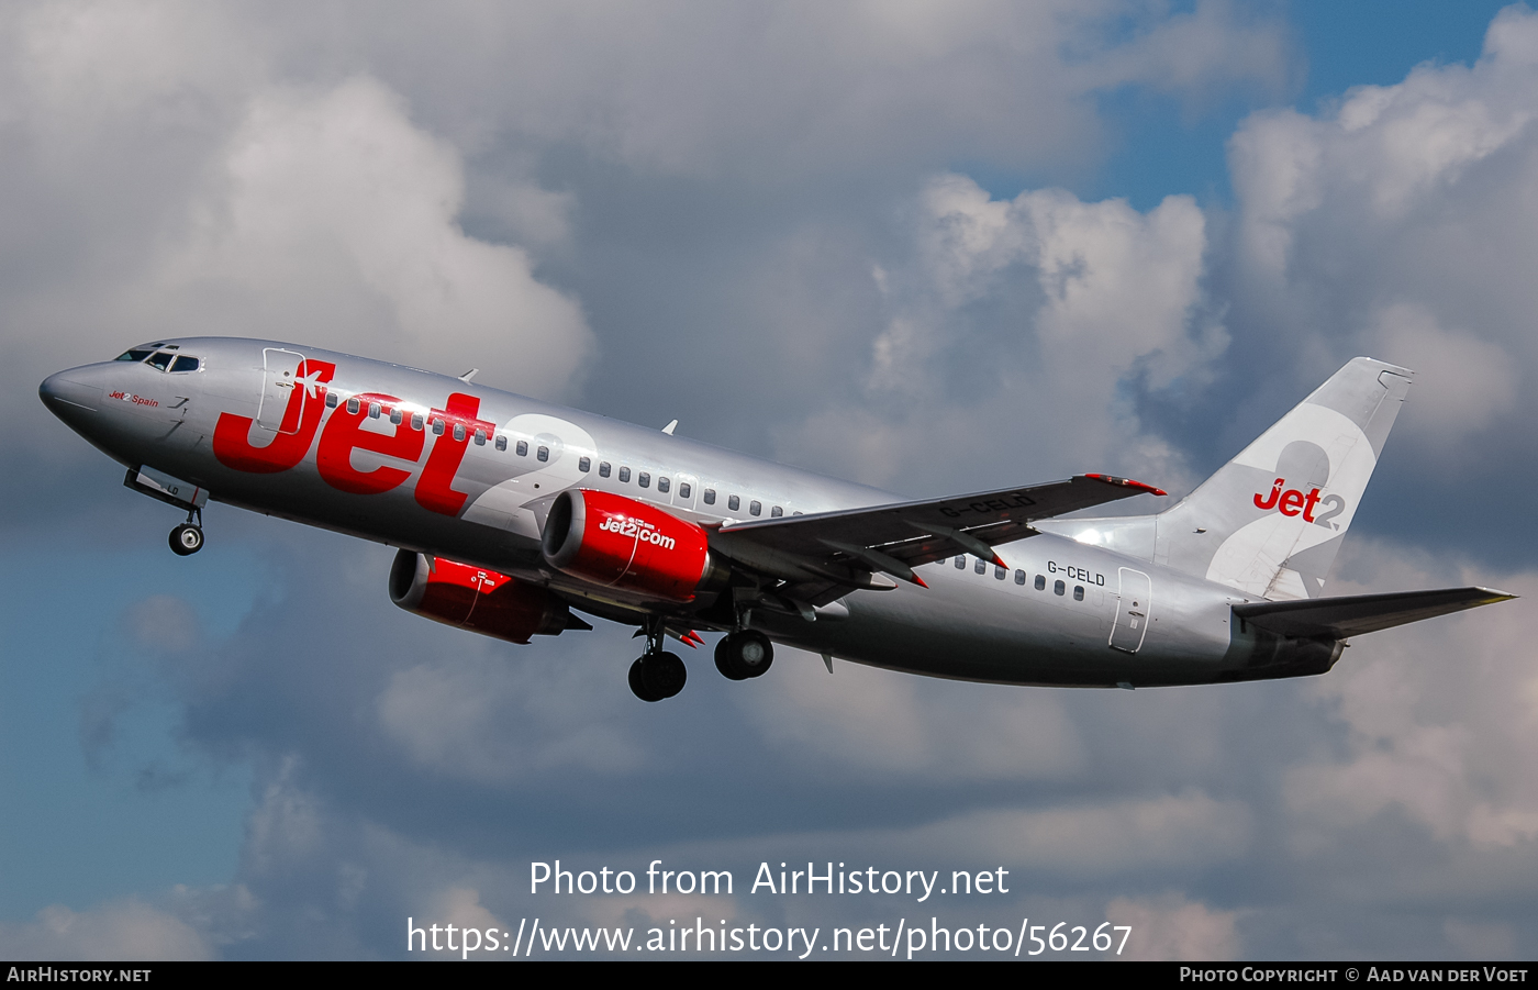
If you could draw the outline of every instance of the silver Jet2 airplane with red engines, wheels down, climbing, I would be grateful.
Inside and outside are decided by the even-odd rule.
[[[1164,497],[1106,473],[901,500],[889,492],[454,378],[301,344],[198,337],[58,372],[49,410],[186,512],[218,501],[397,547],[389,598],[486,636],[635,626],[629,684],[677,695],[664,649],[726,633],[761,676],[774,644],[998,684],[1155,687],[1330,670],[1346,640],[1504,592],[1324,596],[1410,387],[1355,358],[1206,483]]]

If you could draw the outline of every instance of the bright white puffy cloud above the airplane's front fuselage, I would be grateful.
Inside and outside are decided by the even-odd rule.
[[[560,395],[592,347],[529,255],[466,237],[455,151],[371,78],[257,97],[194,228],[145,287],[177,323],[300,337]],[[206,326],[208,323],[205,323]]]

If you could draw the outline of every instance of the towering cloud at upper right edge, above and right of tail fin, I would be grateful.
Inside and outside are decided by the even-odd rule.
[[[1444,463],[1538,409],[1523,387],[1538,370],[1535,38],[1538,15],[1507,8],[1473,66],[1427,63],[1318,115],[1257,114],[1230,143],[1233,318],[1270,331],[1252,350],[1309,378],[1361,352],[1416,367],[1395,443]]]

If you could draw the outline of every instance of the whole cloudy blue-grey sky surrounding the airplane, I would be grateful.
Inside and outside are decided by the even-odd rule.
[[[12,3],[0,215],[0,956],[420,956],[408,918],[1538,953],[1521,5]],[[35,390],[194,334],[480,367],[907,497],[1178,495],[1366,354],[1416,378],[1327,593],[1523,598],[1297,681],[783,649],[647,706],[631,629],[421,621],[384,547],[212,504],[172,556],[174,510]],[[531,893],[555,859],[737,887]],[[807,861],[1010,885],[747,890]]]

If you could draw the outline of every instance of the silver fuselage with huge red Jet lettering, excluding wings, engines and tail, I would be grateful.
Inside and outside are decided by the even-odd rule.
[[[791,517],[900,501],[878,489],[398,364],[274,341],[165,343],[195,357],[197,370],[131,361],[86,364],[51,377],[43,398],[122,464],[186,480],[215,501],[511,573],[551,587],[578,609],[621,621],[655,604],[555,572],[541,555],[544,512],[564,489],[615,492],[701,524],[755,518],[754,504],[760,506],[758,518],[771,518],[777,509]],[[275,370],[291,367],[294,355],[308,361],[300,366],[305,369],[334,366],[326,390],[338,404],[306,407],[305,417],[314,420],[281,424],[275,414],[281,389],[306,387],[281,381]],[[400,424],[378,417],[365,426],[381,438],[381,447],[389,446],[389,437],[412,429],[412,415],[423,417],[420,450],[415,440],[406,444],[412,447],[406,457],[371,450],[371,444],[341,447],[346,463],[328,477],[320,464],[326,427],[354,397],[361,397],[363,409],[384,397],[384,406],[401,410]],[[418,490],[434,446],[444,443],[444,435],[431,429],[434,412],[446,409],[451,397],[458,397],[452,401],[461,409],[472,403],[474,420],[486,423],[484,443],[464,443],[454,464],[446,490],[461,495],[463,504],[451,498],[452,512],[441,498],[434,503]],[[243,417],[291,429],[285,441],[305,449],[291,467],[232,467],[231,458],[217,457],[214,449],[221,417],[226,427]],[[506,449],[498,449],[497,437],[506,438]],[[374,481],[338,487],[338,470]],[[391,480],[395,483],[383,487]],[[660,490],[663,480],[666,493]],[[444,490],[443,478],[431,484]],[[346,490],[360,486],[381,490]],[[706,504],[706,492],[714,493],[714,504]],[[829,656],[1009,684],[1143,687],[1257,679],[1323,672],[1340,653],[1333,641],[1283,640],[1244,629],[1230,606],[1253,596],[1150,560],[1050,533],[997,552],[1007,569],[987,563],[980,572],[977,558],[960,558],[960,567],[950,558],[918,569],[927,587],[858,590],[841,601],[843,607],[820,609],[815,621],[757,609],[752,623],[780,643]],[[383,586],[384,575],[380,581]],[[1137,636],[1123,630],[1117,649],[1118,606],[1134,593],[1146,598],[1140,604],[1146,621]],[[687,615],[689,607],[675,612]]]

